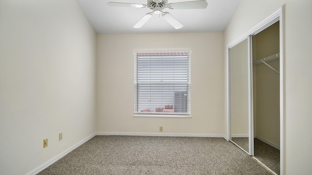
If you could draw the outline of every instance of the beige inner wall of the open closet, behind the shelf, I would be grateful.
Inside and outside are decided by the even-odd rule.
[[[279,23],[253,36],[253,59],[279,53]],[[268,62],[279,70],[279,60]],[[254,135],[280,146],[279,74],[265,64],[254,65]]]

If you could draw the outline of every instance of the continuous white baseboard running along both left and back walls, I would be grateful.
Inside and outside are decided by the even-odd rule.
[[[60,158],[64,157],[74,149],[78,148],[80,145],[85,143],[86,141],[92,139],[94,136],[163,136],[163,137],[218,137],[224,138],[227,140],[227,137],[223,134],[176,134],[176,133],[128,133],[128,132],[96,132],[91,134],[90,136],[86,137],[85,139],[79,141],[75,145],[71,146],[70,148],[66,149],[56,157],[51,158],[47,162],[41,164],[36,169],[32,170],[31,172],[27,173],[26,175],[37,175],[42,170],[46,169],[48,166],[52,165]]]

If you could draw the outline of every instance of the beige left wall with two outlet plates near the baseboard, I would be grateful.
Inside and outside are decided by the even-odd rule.
[[[0,174],[25,175],[95,132],[95,45],[75,0],[0,1]]]

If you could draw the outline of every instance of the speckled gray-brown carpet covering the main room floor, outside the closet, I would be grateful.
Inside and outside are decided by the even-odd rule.
[[[38,175],[271,175],[223,138],[96,136]]]

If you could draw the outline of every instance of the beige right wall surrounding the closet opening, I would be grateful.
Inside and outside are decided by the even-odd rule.
[[[312,166],[312,1],[242,0],[229,25],[225,45],[248,32],[285,4],[285,150],[286,175],[310,174]],[[225,58],[226,59],[226,58]]]

